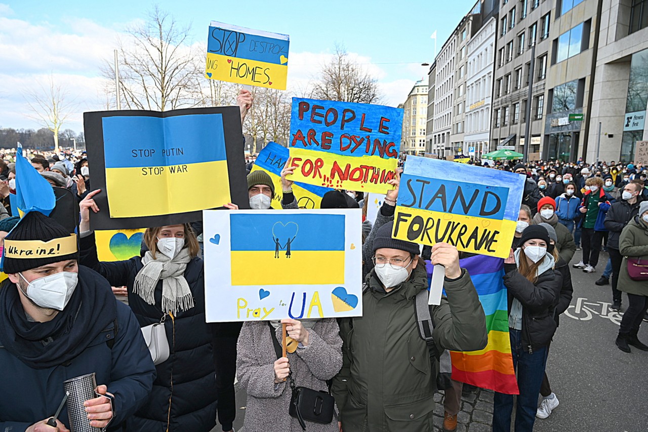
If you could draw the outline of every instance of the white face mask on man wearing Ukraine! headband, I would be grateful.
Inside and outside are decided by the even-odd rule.
[[[18,274],[27,282],[22,273]],[[23,291],[23,294],[38,306],[62,311],[75,292],[77,283],[78,273],[59,272],[27,282],[26,291],[23,291],[19,284],[17,285]]]

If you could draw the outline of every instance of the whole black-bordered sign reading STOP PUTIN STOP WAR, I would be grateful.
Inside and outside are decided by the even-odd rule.
[[[94,230],[198,221],[227,202],[249,208],[238,107],[84,114]]]

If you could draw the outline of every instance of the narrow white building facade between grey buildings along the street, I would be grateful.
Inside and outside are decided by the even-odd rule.
[[[464,154],[481,158],[490,150],[491,97],[497,19],[491,18],[468,43]],[[474,149],[474,151],[471,151]]]

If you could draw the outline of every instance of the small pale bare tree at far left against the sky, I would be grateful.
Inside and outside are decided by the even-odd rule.
[[[39,84],[38,90],[32,89],[25,92],[25,99],[33,113],[29,117],[39,121],[54,134],[54,152],[58,153],[60,151],[58,131],[73,111],[73,104],[69,101],[67,90],[64,86],[55,84],[54,77],[50,75],[47,88]]]

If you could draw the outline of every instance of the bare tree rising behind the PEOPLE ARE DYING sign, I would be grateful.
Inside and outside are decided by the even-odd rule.
[[[329,101],[378,103],[382,99],[378,79],[372,77],[343,47],[336,45],[330,62],[325,64],[314,83],[313,95]]]

